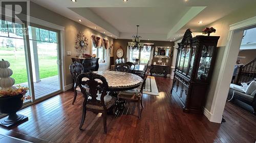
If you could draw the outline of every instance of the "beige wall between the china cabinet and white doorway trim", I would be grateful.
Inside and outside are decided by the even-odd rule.
[[[218,55],[217,60],[215,64],[214,73],[212,75],[210,88],[208,90],[208,96],[206,99],[205,107],[209,111],[211,110],[211,103],[214,98],[215,90],[216,90],[216,84],[217,79],[219,76],[219,71],[222,63],[222,58],[225,50],[225,46],[227,43],[227,36],[229,33],[229,25],[237,23],[239,21],[251,18],[256,16],[256,9],[255,6],[248,6],[246,8],[241,8],[237,11],[234,11],[233,13],[207,25],[207,27],[215,27],[217,32],[214,34],[211,34],[212,36],[220,36],[220,40],[218,42]],[[202,27],[203,28],[203,27]],[[241,39],[242,40],[242,39]],[[235,55],[237,56],[237,55]]]

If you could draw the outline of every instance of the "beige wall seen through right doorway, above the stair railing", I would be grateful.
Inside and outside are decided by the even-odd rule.
[[[253,50],[241,50],[238,53],[239,56],[245,56],[245,59],[240,59],[240,63],[247,64],[256,58],[256,49]]]

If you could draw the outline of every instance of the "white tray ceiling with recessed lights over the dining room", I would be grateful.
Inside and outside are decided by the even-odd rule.
[[[100,33],[120,39],[136,35],[136,25],[143,40],[180,39],[187,28],[201,28],[229,13],[256,5],[253,0],[31,0]],[[203,21],[198,24],[198,21]],[[181,36],[179,36],[181,35]]]

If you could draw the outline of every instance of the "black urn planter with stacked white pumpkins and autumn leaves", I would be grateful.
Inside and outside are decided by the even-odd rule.
[[[0,125],[7,128],[28,120],[28,117],[16,112],[22,108],[25,99],[30,99],[26,95],[28,88],[19,85],[13,87],[15,80],[10,77],[13,72],[9,67],[8,61],[0,61],[0,112],[8,114],[7,118],[1,120]]]

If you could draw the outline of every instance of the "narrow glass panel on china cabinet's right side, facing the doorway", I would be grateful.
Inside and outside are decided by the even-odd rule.
[[[206,80],[210,69],[214,46],[203,46],[197,72],[197,79]]]

